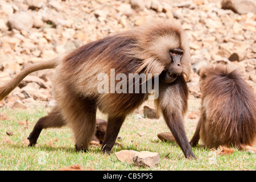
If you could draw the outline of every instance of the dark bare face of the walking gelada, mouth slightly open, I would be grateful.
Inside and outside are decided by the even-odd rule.
[[[175,48],[170,50],[170,65],[160,75],[160,79],[163,82],[170,83],[176,80],[182,73],[181,57],[183,56],[183,50]]]

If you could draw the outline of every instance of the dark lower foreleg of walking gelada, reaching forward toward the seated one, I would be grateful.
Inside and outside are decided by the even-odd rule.
[[[189,159],[196,159],[196,156],[195,154],[193,154],[192,148],[188,143],[187,135],[185,134],[183,118],[181,118],[181,113],[170,113],[166,110],[163,110],[163,115],[169,129],[171,130],[171,133],[174,135],[174,138],[177,144],[179,144],[185,157]]]

